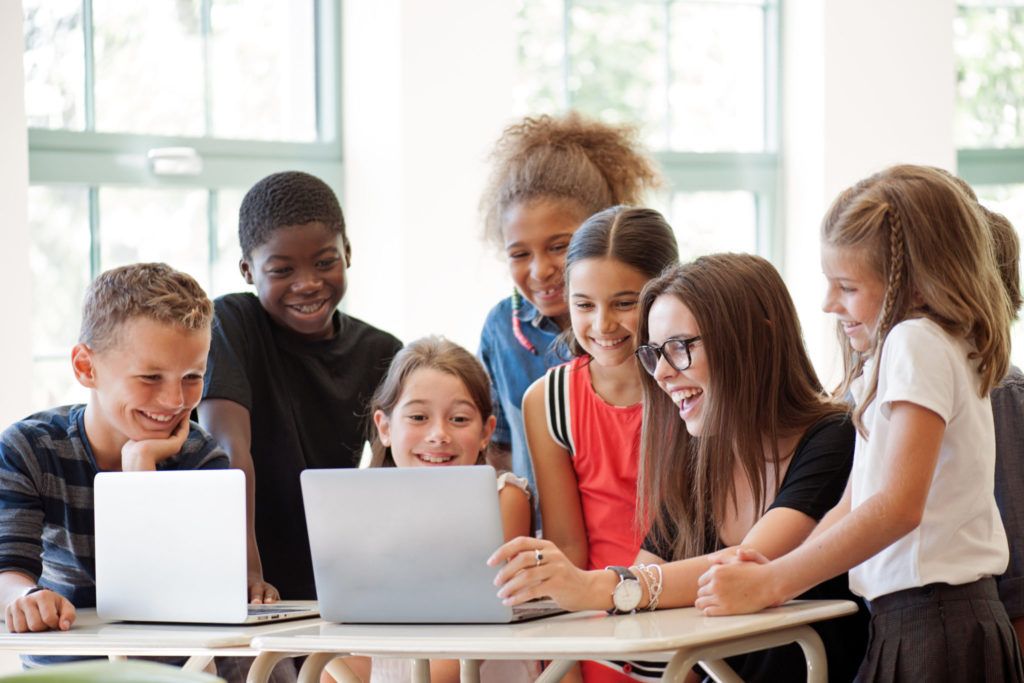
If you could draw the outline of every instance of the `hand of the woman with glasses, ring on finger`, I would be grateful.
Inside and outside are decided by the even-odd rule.
[[[535,598],[551,598],[562,609],[599,608],[591,587],[592,574],[584,571],[550,541],[521,536],[495,551],[487,564],[502,567],[495,577],[498,597],[506,605],[518,605]],[[611,595],[611,590],[608,590]]]

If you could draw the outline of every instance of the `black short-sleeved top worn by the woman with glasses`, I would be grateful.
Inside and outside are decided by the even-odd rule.
[[[846,415],[819,420],[804,432],[797,444],[790,467],[782,477],[775,500],[769,506],[790,508],[819,521],[843,498],[850,468],[856,431]],[[709,539],[706,553],[725,546],[719,539]],[[672,559],[672,549],[659,547],[648,538],[644,550],[663,559]],[[803,595],[808,600],[852,600],[860,605],[856,614],[811,625],[825,646],[829,681],[852,681],[867,646],[867,609],[850,592],[847,574],[829,579]],[[807,664],[799,645],[791,644],[726,659],[744,681],[804,681]]]

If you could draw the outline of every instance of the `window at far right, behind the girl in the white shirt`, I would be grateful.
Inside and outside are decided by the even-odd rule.
[[[959,174],[1024,228],[1024,1],[959,2],[953,25]],[[1024,324],[1014,329],[1024,365]]]

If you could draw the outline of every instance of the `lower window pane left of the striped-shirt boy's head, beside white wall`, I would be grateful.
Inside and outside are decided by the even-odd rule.
[[[88,189],[30,187],[29,233],[33,352],[67,356],[89,284]]]

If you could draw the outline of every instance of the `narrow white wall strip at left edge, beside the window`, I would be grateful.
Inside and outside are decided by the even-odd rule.
[[[22,3],[0,2],[0,428],[25,417],[32,389],[29,153],[25,128]]]

